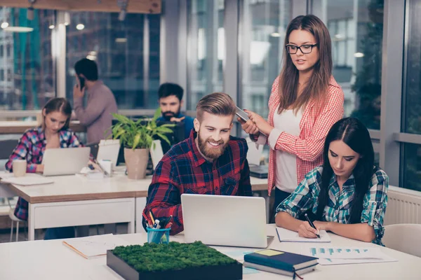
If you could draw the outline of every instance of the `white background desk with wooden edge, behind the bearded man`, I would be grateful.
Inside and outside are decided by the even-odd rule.
[[[152,176],[131,180],[119,172],[99,180],[74,175],[49,178],[54,183],[36,186],[0,184],[0,195],[18,195],[29,202],[29,240],[34,240],[36,229],[74,225],[128,223],[128,233],[145,232],[142,211]],[[267,179],[251,177],[251,183],[255,191],[267,189]]]

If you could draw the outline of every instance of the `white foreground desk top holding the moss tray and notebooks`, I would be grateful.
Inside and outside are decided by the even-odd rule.
[[[267,225],[269,235],[275,235],[274,225]],[[337,235],[332,237],[332,246],[366,246],[377,245],[363,243]],[[119,235],[131,244],[143,244],[147,240],[146,233]],[[182,234],[170,238],[172,241],[184,241]],[[300,253],[298,244],[283,242],[276,238],[270,248]],[[224,247],[220,247],[222,250]],[[236,249],[236,248],[229,248]],[[225,247],[225,250],[227,248]],[[314,279],[420,279],[421,258],[413,255],[382,248],[382,251],[398,262],[382,262],[359,265],[318,265],[316,271],[304,274],[305,280]],[[0,279],[122,279],[107,267],[106,258],[86,260],[81,255],[62,245],[60,240],[26,241],[0,244]],[[245,274],[243,279],[288,279],[291,277],[268,272]]]

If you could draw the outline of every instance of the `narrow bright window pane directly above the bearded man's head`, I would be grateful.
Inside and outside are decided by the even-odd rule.
[[[224,90],[225,6],[223,0],[191,0],[188,3],[187,110],[195,110],[201,97]]]

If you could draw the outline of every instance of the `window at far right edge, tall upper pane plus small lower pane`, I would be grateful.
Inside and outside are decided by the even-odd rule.
[[[406,67],[403,82],[402,132],[421,134],[421,1],[406,10]],[[421,191],[421,146],[403,144],[403,186]]]

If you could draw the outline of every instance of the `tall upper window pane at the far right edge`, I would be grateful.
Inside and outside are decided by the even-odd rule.
[[[421,6],[410,1],[408,13],[408,43],[406,49],[406,79],[404,80],[403,132],[421,134]],[[415,4],[417,3],[417,4]]]

